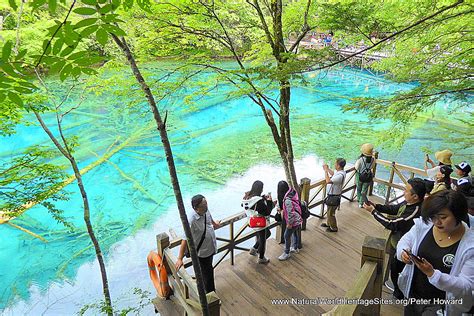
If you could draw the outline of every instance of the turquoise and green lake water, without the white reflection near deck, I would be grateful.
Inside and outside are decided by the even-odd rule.
[[[342,113],[341,105],[355,96],[387,95],[410,88],[353,69],[330,71],[319,78],[310,75],[308,80],[309,86],[292,89],[292,126],[299,157],[311,153],[324,157],[324,153],[334,151],[354,160],[364,135],[387,126],[388,122],[373,123],[363,114]],[[244,172],[249,165],[278,162],[275,150],[257,154],[258,159],[253,160],[244,156],[242,160],[247,163],[231,161],[236,157],[236,146],[244,144],[251,153],[260,153],[262,143],[268,146],[272,141],[260,109],[246,98],[226,99],[226,89],[230,88],[224,87],[200,101],[199,111],[189,111],[179,102],[167,107],[169,135],[183,192],[218,189],[225,177]],[[56,90],[61,91],[61,87],[57,86]],[[77,96],[69,104],[75,100]],[[120,143],[135,133],[142,133],[110,158],[120,171],[106,162],[84,176],[92,221],[106,256],[113,243],[149,227],[174,203],[161,141],[151,115],[141,116],[127,110],[117,114],[111,110],[111,107],[123,108],[123,104],[117,96],[90,94],[80,113],[73,112],[64,121],[67,135],[79,137],[76,156],[81,167],[95,161],[96,154],[104,154],[118,136]],[[45,117],[49,124],[54,123],[51,115]],[[299,129],[307,126],[314,130],[307,129],[305,133]],[[436,128],[435,123],[420,126],[402,150],[382,149],[381,157],[421,166],[422,146],[433,151],[447,146],[434,133]],[[248,137],[253,132],[268,139],[256,142],[249,137],[245,145],[241,135]],[[37,124],[19,126],[15,135],[0,138],[0,159],[8,160],[31,145],[51,147]],[[246,150],[243,155],[249,155]],[[227,164],[220,164],[222,161]],[[59,155],[53,162],[66,165]],[[76,185],[66,189],[71,192],[71,199],[57,206],[75,225],[73,233],[56,223],[42,207],[33,207],[13,222],[43,236],[48,243],[10,226],[0,226],[0,310],[13,301],[28,300],[32,285],[45,291],[53,282],[74,280],[79,267],[95,258],[83,224],[82,202]]]

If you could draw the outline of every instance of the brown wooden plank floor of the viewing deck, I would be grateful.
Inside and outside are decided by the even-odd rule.
[[[302,232],[303,249],[287,261],[278,261],[283,245],[270,238],[266,252],[271,259],[268,265],[257,264],[256,257],[245,252],[236,255],[234,266],[228,260],[219,265],[215,280],[222,302],[221,314],[319,315],[331,310],[334,305],[272,304],[272,300],[344,297],[360,270],[365,236],[382,237],[385,229],[355,202],[343,203],[336,216],[337,233],[326,232],[320,227],[325,220],[311,217],[306,231]],[[383,297],[389,298],[387,289],[383,290]],[[178,314],[162,312],[167,313]],[[383,305],[381,309],[381,315],[402,313],[403,308],[397,305]]]

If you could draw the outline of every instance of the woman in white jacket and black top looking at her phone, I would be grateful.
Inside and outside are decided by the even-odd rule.
[[[463,223],[466,199],[456,191],[435,193],[421,216],[397,245],[398,260],[406,263],[398,286],[410,299],[404,315],[472,313],[474,231]]]

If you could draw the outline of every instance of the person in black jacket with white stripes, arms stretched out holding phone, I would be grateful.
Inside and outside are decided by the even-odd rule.
[[[363,207],[371,212],[374,218],[385,228],[392,231],[390,235],[390,278],[393,283],[393,296],[402,299],[403,293],[398,288],[398,274],[405,266],[394,257],[397,243],[415,224],[414,219],[420,217],[421,204],[426,194],[425,181],[420,178],[409,179],[405,187],[405,201],[395,205],[366,204]],[[392,218],[385,216],[392,215]],[[387,286],[388,287],[388,286]]]

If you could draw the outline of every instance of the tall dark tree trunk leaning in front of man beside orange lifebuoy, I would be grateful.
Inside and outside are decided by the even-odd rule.
[[[173,191],[176,198],[176,204],[178,206],[179,216],[181,218],[181,223],[184,228],[184,233],[188,241],[189,252],[191,254],[191,260],[193,262],[194,272],[196,275],[198,294],[199,294],[199,301],[201,303],[203,315],[209,315],[209,307],[207,305],[206,292],[204,290],[204,281],[202,278],[201,266],[199,264],[199,260],[198,260],[198,256],[196,252],[196,246],[194,244],[194,239],[192,238],[192,235],[191,235],[191,228],[189,227],[188,218],[186,216],[186,210],[184,208],[183,197],[181,196],[181,189],[179,187],[178,175],[176,173],[176,167],[174,164],[173,152],[171,151],[171,145],[168,139],[168,133],[166,131],[165,123],[161,119],[160,112],[155,103],[155,98],[153,97],[150,87],[145,82],[145,79],[143,78],[140,70],[138,69],[138,66],[135,62],[135,58],[133,57],[132,52],[130,51],[130,48],[128,47],[127,42],[125,41],[123,37],[120,39],[114,34],[111,34],[111,35],[115,43],[117,44],[117,46],[120,47],[125,57],[127,58],[128,62],[130,63],[132,72],[135,78],[137,79],[138,83],[140,84],[141,89],[145,93],[145,96],[148,100],[148,104],[150,105],[151,112],[153,113],[153,118],[156,122],[158,131],[160,132],[161,142],[163,143],[163,148],[165,150],[166,161],[168,163],[168,170],[170,173],[171,183],[173,185]]]

